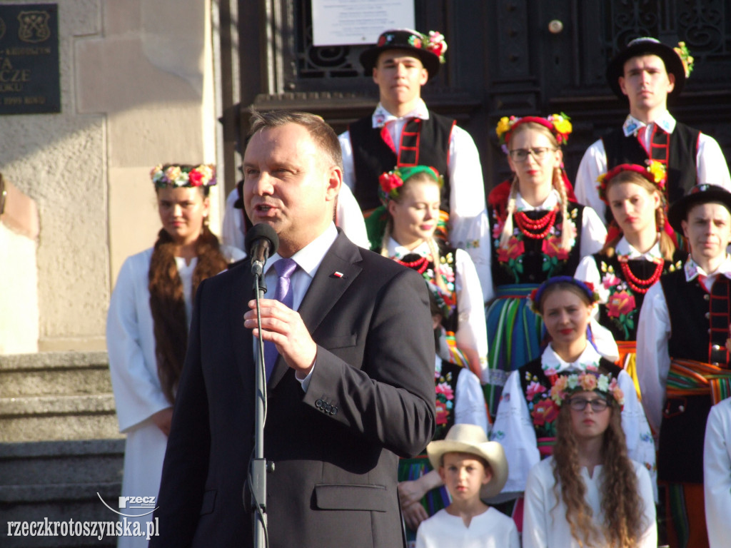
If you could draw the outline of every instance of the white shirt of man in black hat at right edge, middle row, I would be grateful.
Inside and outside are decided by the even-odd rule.
[[[686,281],[693,281],[698,275],[705,275],[704,285],[710,292],[719,275],[731,279],[731,256],[713,273],[705,273],[692,257],[683,267]],[[683,295],[675,298],[682,299]],[[660,432],[662,408],[665,405],[665,386],[670,372],[670,354],[667,343],[670,340],[670,312],[659,281],[645,294],[637,323],[637,380],[640,381],[642,404],[648,422],[655,433]]]

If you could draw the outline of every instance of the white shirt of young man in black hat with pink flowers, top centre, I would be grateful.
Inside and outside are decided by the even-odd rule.
[[[429,119],[429,110],[422,99],[419,99],[414,110],[401,117],[389,113],[381,103],[372,115],[374,128],[386,126],[395,145],[396,156],[401,146],[401,132],[410,118]],[[355,189],[355,163],[350,132],[342,133],[338,139],[343,151],[344,183],[350,189]],[[490,230],[480,153],[477,152],[471,135],[456,125],[450,135],[447,159],[447,175],[450,179],[450,242],[469,253],[484,289],[487,281],[485,265],[490,247]],[[393,166],[389,169],[393,169]]]

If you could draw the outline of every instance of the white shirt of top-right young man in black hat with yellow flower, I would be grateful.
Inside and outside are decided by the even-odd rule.
[[[656,121],[645,124],[637,120],[634,116],[628,115],[622,129],[624,130],[624,134],[629,136],[631,134],[637,134],[640,128],[646,126],[647,129],[644,135],[645,143],[643,144],[645,150],[649,150],[652,129],[655,124],[666,132],[672,133],[675,129],[675,118],[666,110]],[[731,175],[729,175],[726,159],[724,158],[724,153],[721,151],[719,143],[713,137],[700,134],[695,159],[697,166],[697,184],[710,183],[723,186],[725,189],[731,191]],[[606,172],[607,153],[604,148],[604,142],[599,139],[586,149],[579,164],[574,189],[576,191],[576,199],[579,203],[594,208],[602,219],[605,218],[606,205],[599,198],[599,189],[597,187],[599,183],[596,182],[596,178]]]

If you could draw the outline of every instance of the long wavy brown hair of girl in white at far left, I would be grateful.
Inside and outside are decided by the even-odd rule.
[[[157,375],[162,392],[170,403],[175,403],[175,391],[188,346],[185,297],[183,282],[175,264],[175,247],[173,238],[165,229],[160,229],[148,272]],[[196,255],[198,262],[193,271],[193,295],[201,281],[227,267],[219,239],[205,223],[196,241]]]

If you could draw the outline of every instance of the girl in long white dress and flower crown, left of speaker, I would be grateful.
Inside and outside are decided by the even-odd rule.
[[[112,387],[126,434],[122,495],[131,497],[156,497],[160,487],[197,286],[244,256],[219,246],[208,229],[212,165],[158,165],[150,175],[162,229],[153,248],[122,265],[107,316]],[[137,518],[142,530],[151,518]],[[147,541],[120,537],[118,546],[146,547]]]

